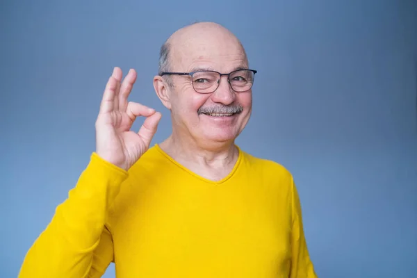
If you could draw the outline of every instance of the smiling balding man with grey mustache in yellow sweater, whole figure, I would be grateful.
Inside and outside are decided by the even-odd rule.
[[[127,101],[136,72],[122,81],[116,67],[96,152],[19,277],[101,277],[112,261],[118,278],[316,277],[291,174],[234,144],[255,74],[226,28],[175,32],[154,77],[172,135],[149,148],[161,114]],[[138,116],[146,120],[136,133]]]

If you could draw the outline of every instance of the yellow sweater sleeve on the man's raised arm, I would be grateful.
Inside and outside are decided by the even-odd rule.
[[[127,176],[93,153],[76,186],[28,250],[19,277],[101,277],[113,259],[108,211]]]

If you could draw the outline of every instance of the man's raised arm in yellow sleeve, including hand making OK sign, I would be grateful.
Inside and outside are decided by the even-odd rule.
[[[135,81],[135,70],[122,82],[122,70],[113,69],[95,122],[96,152],[26,254],[20,278],[100,277],[113,259],[111,233],[104,229],[108,213],[127,171],[149,148],[162,116],[127,101]],[[138,116],[147,118],[135,133],[130,129]]]

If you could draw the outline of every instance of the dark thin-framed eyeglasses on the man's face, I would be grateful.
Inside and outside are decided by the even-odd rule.
[[[196,92],[209,94],[217,90],[222,76],[227,76],[227,81],[232,90],[235,92],[246,92],[252,88],[256,72],[256,70],[235,70],[229,74],[221,74],[213,70],[204,70],[197,72],[161,72],[160,76],[168,74],[189,75]]]

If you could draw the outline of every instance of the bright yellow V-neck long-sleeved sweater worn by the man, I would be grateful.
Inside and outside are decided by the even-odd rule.
[[[19,277],[316,277],[291,174],[239,149],[209,181],[154,145],[126,172],[93,153]]]

